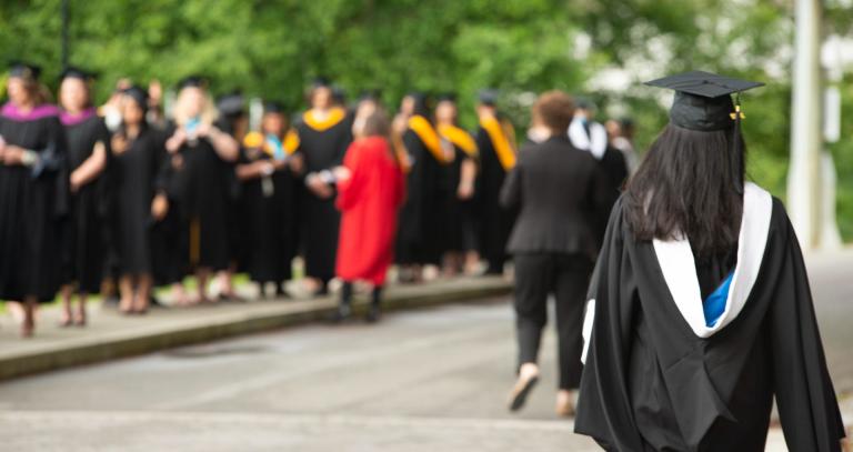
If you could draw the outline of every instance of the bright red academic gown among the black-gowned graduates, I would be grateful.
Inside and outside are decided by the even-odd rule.
[[[352,178],[338,184],[338,277],[382,285],[393,261],[398,209],[405,195],[403,173],[380,137],[350,144],[343,165]]]

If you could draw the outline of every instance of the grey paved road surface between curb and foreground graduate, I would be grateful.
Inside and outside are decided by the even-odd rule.
[[[506,297],[311,324],[0,384],[3,448],[29,451],[598,451],[553,412],[555,338],[518,414]],[[772,430],[767,451],[784,451]]]

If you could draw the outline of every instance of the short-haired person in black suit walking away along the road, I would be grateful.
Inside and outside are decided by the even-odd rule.
[[[560,391],[556,411],[574,411],[572,390],[581,379],[584,295],[598,253],[598,219],[608,203],[608,183],[595,158],[574,148],[565,130],[572,98],[562,91],[540,96],[533,120],[550,138],[529,142],[501,190],[506,209],[520,209],[508,251],[515,263],[519,379],[510,410],[524,404],[539,380],[536,364],[549,294],[556,300]]]

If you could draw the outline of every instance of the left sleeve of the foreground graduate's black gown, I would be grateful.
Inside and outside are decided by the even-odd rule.
[[[633,280],[623,239],[622,202],[616,202],[590,283],[590,331],[574,431],[608,451],[642,451],[633,419],[628,364],[634,314]]]

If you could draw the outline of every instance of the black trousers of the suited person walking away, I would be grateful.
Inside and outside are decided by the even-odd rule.
[[[560,389],[581,382],[583,310],[592,262],[583,254],[516,254],[515,329],[519,365],[536,363],[542,329],[548,323],[548,297],[556,300]]]

